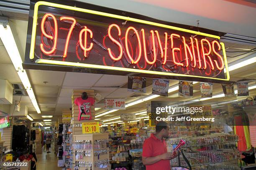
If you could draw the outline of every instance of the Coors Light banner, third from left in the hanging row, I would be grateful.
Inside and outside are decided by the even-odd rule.
[[[179,81],[179,97],[193,97],[193,82]]]

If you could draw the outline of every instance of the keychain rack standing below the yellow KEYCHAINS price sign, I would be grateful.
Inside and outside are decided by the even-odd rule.
[[[110,170],[108,133],[73,135],[73,170]]]

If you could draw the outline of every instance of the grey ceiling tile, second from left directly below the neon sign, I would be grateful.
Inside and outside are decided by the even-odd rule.
[[[81,72],[67,72],[63,86],[72,87],[92,87],[101,77],[100,74],[90,74]]]

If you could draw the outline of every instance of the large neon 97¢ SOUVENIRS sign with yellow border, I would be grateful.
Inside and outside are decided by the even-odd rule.
[[[229,80],[225,47],[219,36],[68,2],[31,1],[25,68],[205,82]]]

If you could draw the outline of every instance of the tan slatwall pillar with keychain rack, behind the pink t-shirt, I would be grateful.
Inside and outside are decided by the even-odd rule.
[[[88,97],[95,98],[94,90],[73,90],[72,92],[72,170],[110,170],[109,134],[82,133],[82,122],[95,122],[95,104],[91,105],[91,120],[78,120],[79,107],[74,103],[77,97],[86,92]]]

